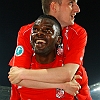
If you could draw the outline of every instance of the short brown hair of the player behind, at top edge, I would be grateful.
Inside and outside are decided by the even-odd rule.
[[[44,14],[48,14],[50,11],[51,2],[58,2],[58,4],[62,3],[62,0],[41,0],[42,10]]]

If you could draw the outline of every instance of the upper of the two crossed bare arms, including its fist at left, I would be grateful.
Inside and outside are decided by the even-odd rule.
[[[63,67],[38,70],[12,67],[8,78],[13,84],[19,83],[23,79],[49,83],[62,83],[71,81],[78,67],[78,64],[66,64]]]

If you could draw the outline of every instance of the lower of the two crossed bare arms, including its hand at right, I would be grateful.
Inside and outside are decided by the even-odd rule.
[[[79,89],[81,88],[79,83],[76,82],[76,79],[81,79],[81,77],[79,75],[76,75],[71,82],[65,82],[65,83],[46,83],[46,82],[38,82],[32,80],[22,80],[17,85],[28,88],[36,88],[36,89],[59,88],[75,96],[78,93]]]

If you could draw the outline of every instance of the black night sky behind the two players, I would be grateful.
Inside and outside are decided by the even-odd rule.
[[[100,81],[100,7],[99,0],[79,0],[81,12],[75,22],[88,33],[84,67],[89,85]],[[16,47],[20,27],[32,23],[42,14],[40,0],[2,0],[0,2],[0,85],[10,86],[8,62]]]

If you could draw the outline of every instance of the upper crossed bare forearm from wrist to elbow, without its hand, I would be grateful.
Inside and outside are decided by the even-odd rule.
[[[63,67],[38,69],[38,70],[25,70],[21,78],[41,82],[62,83],[71,81],[75,75],[79,65],[66,64]]]

